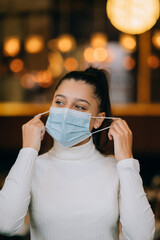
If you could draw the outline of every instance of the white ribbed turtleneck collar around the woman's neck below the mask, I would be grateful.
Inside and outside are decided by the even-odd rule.
[[[54,141],[54,146],[50,150],[50,154],[53,157],[56,157],[60,160],[86,160],[91,158],[96,153],[95,145],[93,143],[93,139],[90,140],[80,146],[77,147],[63,147],[58,142]]]

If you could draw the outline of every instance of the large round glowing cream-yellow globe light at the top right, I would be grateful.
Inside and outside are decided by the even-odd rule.
[[[141,34],[152,28],[159,18],[159,0],[108,0],[106,11],[118,30]]]

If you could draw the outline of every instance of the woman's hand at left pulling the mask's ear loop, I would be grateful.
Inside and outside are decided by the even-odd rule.
[[[45,134],[45,126],[40,117],[36,116],[22,126],[23,148],[31,147],[39,152]]]

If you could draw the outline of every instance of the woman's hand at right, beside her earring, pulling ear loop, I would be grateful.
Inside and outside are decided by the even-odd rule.
[[[109,140],[114,141],[114,153],[117,161],[132,158],[132,132],[122,119],[112,122],[108,132]]]

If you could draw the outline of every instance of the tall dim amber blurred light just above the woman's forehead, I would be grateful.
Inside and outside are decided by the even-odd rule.
[[[63,72],[64,62],[60,52],[53,52],[48,54],[49,67],[48,70],[52,73],[54,78],[59,77]]]

